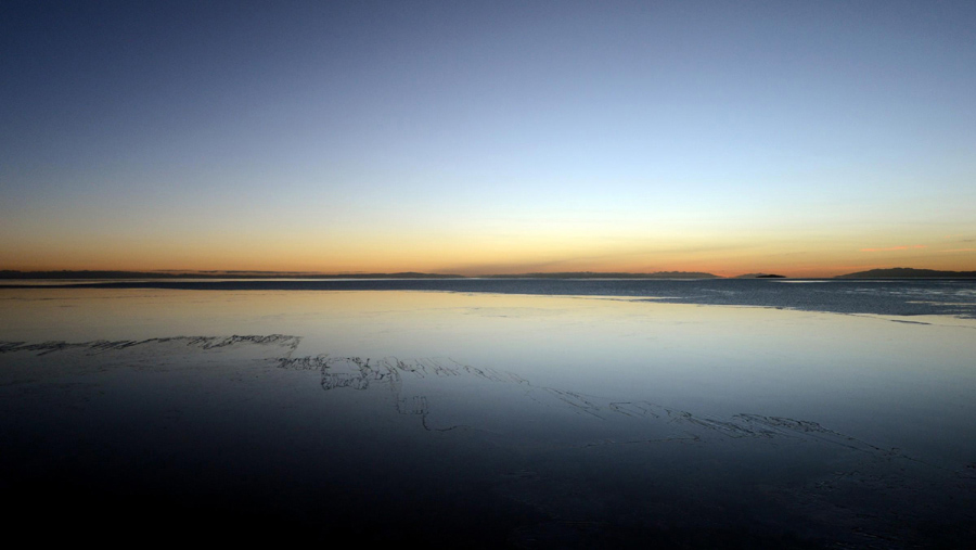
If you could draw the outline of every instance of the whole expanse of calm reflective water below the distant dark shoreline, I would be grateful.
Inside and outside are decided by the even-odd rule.
[[[971,282],[112,284],[0,289],[0,490],[34,540],[976,535]]]

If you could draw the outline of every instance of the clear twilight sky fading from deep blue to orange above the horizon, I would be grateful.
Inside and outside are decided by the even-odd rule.
[[[0,3],[0,269],[976,270],[976,2]]]

